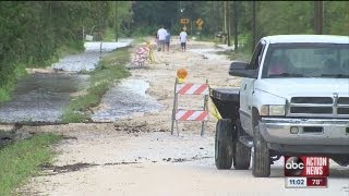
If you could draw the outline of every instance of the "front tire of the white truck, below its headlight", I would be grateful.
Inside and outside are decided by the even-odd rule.
[[[270,155],[266,142],[261,135],[258,123],[253,130],[253,168],[252,174],[256,177],[270,175]]]

